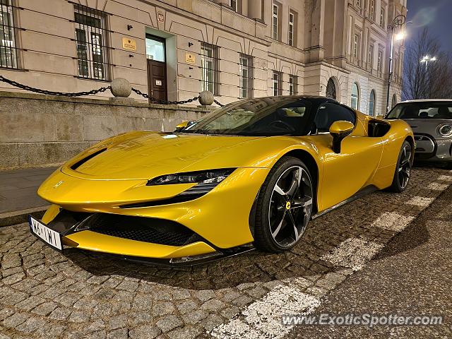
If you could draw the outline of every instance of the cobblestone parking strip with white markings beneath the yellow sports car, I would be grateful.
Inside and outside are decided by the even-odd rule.
[[[0,333],[4,338],[284,335],[290,328],[280,328],[280,309],[299,313],[314,307],[450,184],[450,171],[414,169],[403,194],[369,194],[314,220],[292,251],[253,251],[191,268],[155,268],[75,249],[60,254],[32,236],[26,224],[4,227]]]

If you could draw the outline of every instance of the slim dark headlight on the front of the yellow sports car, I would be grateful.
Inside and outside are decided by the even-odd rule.
[[[207,171],[185,172],[167,174],[148,180],[146,186],[169,185],[169,184],[220,184],[226,177],[234,172],[235,168],[211,169]]]

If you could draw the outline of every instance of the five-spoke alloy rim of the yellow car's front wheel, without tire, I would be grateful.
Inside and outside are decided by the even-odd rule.
[[[289,167],[273,187],[268,223],[273,240],[290,247],[302,237],[312,212],[312,183],[306,169]]]

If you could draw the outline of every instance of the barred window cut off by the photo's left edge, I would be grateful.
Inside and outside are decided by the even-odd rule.
[[[0,0],[0,67],[18,69],[17,29],[12,0]]]

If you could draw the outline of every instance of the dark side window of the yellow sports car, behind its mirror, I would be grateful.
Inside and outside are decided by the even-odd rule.
[[[324,133],[330,131],[330,126],[333,122],[338,120],[350,121],[355,124],[355,113],[351,109],[335,102],[325,102],[319,106],[316,117],[314,117],[314,124],[311,129],[311,134]]]

